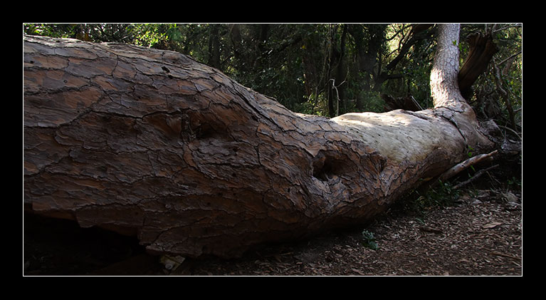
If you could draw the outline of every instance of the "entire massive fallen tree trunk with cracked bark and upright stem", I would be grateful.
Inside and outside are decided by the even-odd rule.
[[[458,26],[442,38],[434,109],[327,119],[180,53],[25,36],[25,209],[189,257],[368,221],[493,147],[456,88]]]

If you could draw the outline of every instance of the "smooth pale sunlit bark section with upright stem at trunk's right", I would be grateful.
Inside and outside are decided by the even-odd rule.
[[[492,143],[479,130],[476,115],[458,88],[459,27],[459,24],[439,25],[439,41],[431,70],[434,109],[347,113],[332,121],[347,125],[352,136],[377,149],[394,164],[424,162],[429,156],[461,161],[469,148],[490,149]]]

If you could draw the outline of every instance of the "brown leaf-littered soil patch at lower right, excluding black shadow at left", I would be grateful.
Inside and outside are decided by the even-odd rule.
[[[480,191],[476,197],[463,196],[455,205],[436,208],[422,217],[390,212],[366,228],[268,247],[243,259],[193,262],[173,273],[520,276],[523,273],[521,207],[518,202],[497,196]],[[364,230],[373,234],[377,249],[369,248],[362,234]]]

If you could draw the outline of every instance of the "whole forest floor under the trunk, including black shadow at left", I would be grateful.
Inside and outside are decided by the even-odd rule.
[[[366,227],[167,270],[133,237],[25,215],[23,276],[522,276],[522,234],[521,190],[473,187],[446,206],[397,205]]]

